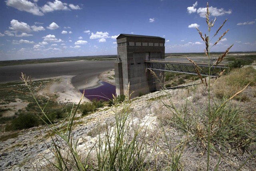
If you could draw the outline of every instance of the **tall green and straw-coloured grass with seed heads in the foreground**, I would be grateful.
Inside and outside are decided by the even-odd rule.
[[[182,98],[182,94],[170,94],[166,91],[167,95],[162,96],[163,98],[160,99],[164,104],[163,107],[154,111],[160,124],[153,130],[146,122],[144,124],[136,124],[133,120],[131,115],[132,102],[129,101],[127,95],[125,98],[122,97],[122,100],[120,100],[121,97],[114,97],[110,105],[113,106],[115,123],[106,124],[105,132],[96,136],[96,142],[86,146],[84,151],[80,151],[78,149],[78,141],[74,140],[72,132],[74,119],[80,108],[82,98],[77,106],[73,106],[62,124],[55,126],[45,113],[47,103],[45,106],[41,106],[37,102],[36,96],[29,85],[28,77],[22,74],[22,80],[45,117],[38,116],[48,126],[49,132],[52,133],[50,138],[52,140],[51,151],[54,155],[54,160],[47,159],[50,164],[45,165],[45,167],[49,170],[58,171],[182,171],[186,169],[185,165],[187,165],[186,161],[188,161],[188,159],[185,160],[186,157],[189,158],[187,151],[194,147],[198,151],[200,150],[198,155],[202,155],[202,158],[205,156],[207,158],[206,160],[202,159],[202,161],[206,162],[197,167],[198,170],[218,170],[221,167],[222,160],[228,155],[226,153],[234,150],[244,153],[246,149],[255,144],[255,125],[250,122],[248,114],[239,105],[232,103],[232,100],[251,83],[251,80],[238,83],[240,87],[236,93],[232,94],[230,92],[229,95],[226,95],[226,93],[218,95],[215,92],[219,97],[217,100],[215,98],[214,91],[217,87],[217,82],[210,77],[210,70],[213,65],[218,65],[224,59],[232,45],[228,47],[224,54],[218,57],[216,63],[213,65],[210,63],[210,41],[212,40],[210,38],[210,30],[214,26],[216,19],[210,21],[209,17],[210,12],[207,4],[206,23],[208,35],[205,34],[203,36],[198,28],[197,30],[206,44],[205,54],[209,60],[209,76],[203,78],[200,75],[200,67],[188,58],[196,66],[202,86],[198,86],[198,89],[187,90],[186,95],[188,97],[183,98],[180,104],[177,104],[174,98]],[[217,29],[213,37],[218,34],[225,23],[226,20]],[[216,45],[226,33],[227,31],[213,44]],[[222,74],[220,73],[216,77],[217,81],[221,79]],[[234,78],[230,80],[234,80]],[[227,84],[232,83],[227,82]],[[219,88],[217,87],[217,89]],[[201,98],[203,101],[200,101],[199,97],[197,97],[199,90],[202,93]],[[127,92],[127,94],[129,93]],[[219,100],[220,97],[221,100]],[[166,98],[166,101],[164,98]],[[86,108],[86,106],[82,107]],[[249,152],[248,159],[240,163],[240,166],[236,167],[237,170],[241,169],[256,153],[255,151]],[[185,153],[186,156],[184,156]],[[211,161],[213,158],[215,158],[214,161],[216,163]]]

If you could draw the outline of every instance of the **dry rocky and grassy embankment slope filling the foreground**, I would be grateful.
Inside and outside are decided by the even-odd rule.
[[[238,73],[244,75],[239,76]],[[227,83],[228,81],[230,83]],[[250,81],[252,82],[244,92],[222,106],[222,112],[212,120],[210,170],[217,166],[219,170],[236,170],[243,165],[246,159],[248,161],[242,170],[249,171],[256,167],[255,71],[252,68],[240,69],[217,79],[216,82],[212,79],[210,107],[213,111],[218,110],[218,106],[224,100],[223,97],[229,98],[228,94],[233,95]],[[232,89],[232,86],[227,86],[226,83],[235,85],[236,88]],[[205,87],[200,84],[200,81],[195,81],[182,85],[180,88],[146,94],[112,107],[105,106],[86,116],[78,113],[71,134],[73,145],[78,141],[77,153],[82,160],[91,149],[88,163],[97,167],[95,150],[100,147],[99,143],[104,144],[107,137],[110,140],[109,147],[114,149],[115,142],[118,142],[114,138],[114,132],[118,128],[117,123],[125,121],[122,127],[124,143],[120,145],[126,149],[125,145],[130,144],[130,141],[135,138],[136,150],[140,153],[140,159],[145,168],[169,170],[175,166],[177,170],[205,170],[208,128],[206,124],[207,99]],[[127,118],[122,118],[123,116]],[[60,127],[60,122],[54,126]],[[66,128],[64,124],[58,130]],[[60,145],[62,155],[66,156],[67,152],[70,153],[65,141],[59,136],[54,136],[47,126],[22,130],[17,134],[16,138],[8,139],[0,144],[0,168],[2,170],[45,170],[46,166],[52,168],[46,160],[56,162],[54,153],[51,152],[53,147],[51,136],[54,142]],[[70,159],[70,162],[72,161],[71,156],[66,157]],[[106,156],[101,156],[102,159],[104,157]]]

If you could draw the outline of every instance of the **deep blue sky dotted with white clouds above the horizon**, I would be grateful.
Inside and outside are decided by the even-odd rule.
[[[209,0],[211,51],[256,51],[256,0]],[[205,0],[1,0],[0,61],[114,55],[120,33],[166,39],[166,53],[204,52]],[[214,43],[216,39],[212,40]]]

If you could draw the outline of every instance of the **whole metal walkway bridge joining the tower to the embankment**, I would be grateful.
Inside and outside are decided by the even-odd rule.
[[[209,73],[209,64],[208,61],[194,61],[199,69],[200,74],[202,76],[208,76]],[[228,69],[228,62],[221,62],[217,66],[213,65],[215,61],[211,61],[211,68],[210,68],[210,76],[214,77],[217,76],[221,71],[224,69]],[[188,61],[185,60],[164,60],[164,59],[150,59],[146,60],[147,69],[151,70],[160,70],[160,71],[170,71],[176,73],[186,73],[186,74],[194,74],[196,73],[196,66]]]

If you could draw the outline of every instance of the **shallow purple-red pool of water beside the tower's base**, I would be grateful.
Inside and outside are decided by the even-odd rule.
[[[88,88],[88,89],[80,89],[80,92],[83,93],[84,96],[89,100],[97,99],[97,100],[105,100],[108,101],[109,99],[113,98],[112,94],[116,94],[116,86],[106,83],[104,81],[98,82],[100,86],[96,88]]]

